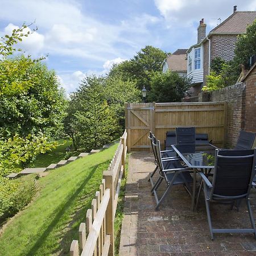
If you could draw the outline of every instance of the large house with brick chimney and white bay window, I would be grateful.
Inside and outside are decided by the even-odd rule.
[[[256,19],[256,11],[237,11],[206,35],[207,24],[200,20],[197,28],[197,43],[187,51],[187,76],[192,79],[191,96],[201,92],[209,75],[210,61],[215,57],[229,61],[234,57],[237,36],[246,32],[246,27]]]

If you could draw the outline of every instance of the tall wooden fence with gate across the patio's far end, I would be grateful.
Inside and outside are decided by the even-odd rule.
[[[125,110],[128,151],[150,150],[148,131],[163,144],[166,132],[176,127],[196,127],[216,146],[225,141],[225,102],[127,103]]]

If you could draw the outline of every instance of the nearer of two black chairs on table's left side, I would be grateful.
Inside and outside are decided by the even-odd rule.
[[[164,198],[170,192],[173,185],[183,184],[191,195],[191,188],[189,183],[193,182],[193,179],[190,175],[189,168],[181,165],[179,160],[167,160],[163,159],[160,150],[160,141],[153,139],[152,146],[156,155],[156,162],[159,167],[159,179],[154,184],[154,187],[151,190],[151,193],[155,196],[156,207],[158,209],[160,204],[162,204]],[[165,162],[168,162],[168,167],[165,166]],[[158,199],[157,190],[162,181],[165,180],[167,184],[166,191],[164,191],[162,197]]]

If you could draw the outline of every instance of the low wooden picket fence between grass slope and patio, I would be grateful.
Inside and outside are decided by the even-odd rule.
[[[114,255],[114,218],[121,180],[125,175],[126,140],[125,130],[108,171],[103,173],[100,189],[92,200],[92,208],[86,212],[86,223],[79,226],[79,241],[73,240],[71,243],[71,256]]]

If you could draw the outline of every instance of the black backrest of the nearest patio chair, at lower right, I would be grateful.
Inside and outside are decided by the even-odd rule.
[[[254,177],[254,150],[217,150],[210,197],[214,200],[249,196]]]

